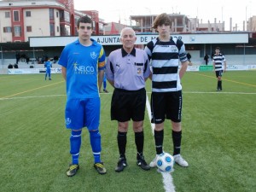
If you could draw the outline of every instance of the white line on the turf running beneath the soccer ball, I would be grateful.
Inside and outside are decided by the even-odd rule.
[[[148,111],[148,119],[151,120],[151,109],[150,109],[150,104],[148,102],[148,96],[147,96],[147,102],[146,102],[146,107]],[[152,134],[154,136],[154,124],[151,123],[151,130]],[[164,183],[164,189],[166,192],[175,192],[175,186],[173,184],[173,179],[171,173],[168,172],[161,172],[162,177],[163,177],[163,183]]]

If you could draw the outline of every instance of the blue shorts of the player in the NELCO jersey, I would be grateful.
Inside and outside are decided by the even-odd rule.
[[[67,129],[97,130],[100,125],[100,97],[86,99],[67,99],[65,123]]]

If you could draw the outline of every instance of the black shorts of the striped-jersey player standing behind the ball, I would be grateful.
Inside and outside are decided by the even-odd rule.
[[[153,92],[151,94],[151,123],[160,124],[165,119],[181,122],[183,108],[182,91]]]

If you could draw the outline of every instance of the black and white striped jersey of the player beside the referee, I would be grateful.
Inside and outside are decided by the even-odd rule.
[[[172,92],[182,90],[178,74],[179,61],[188,61],[185,46],[177,38],[161,42],[154,38],[145,47],[152,67],[152,91]]]

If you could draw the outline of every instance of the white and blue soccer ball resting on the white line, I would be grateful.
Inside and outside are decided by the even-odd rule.
[[[171,154],[163,153],[157,156],[156,166],[161,172],[172,172],[174,166],[174,158]]]

